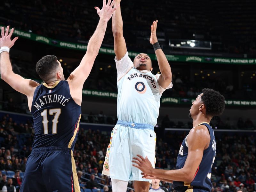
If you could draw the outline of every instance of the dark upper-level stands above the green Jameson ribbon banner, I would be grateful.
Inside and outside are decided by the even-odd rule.
[[[138,4],[143,6],[122,1],[126,43],[135,50],[149,46],[139,42],[150,36],[153,20],[159,20],[158,36],[164,39],[166,47],[169,39],[196,39],[212,41],[214,52],[256,52],[254,23],[251,20],[255,4],[252,0],[246,3],[235,0],[233,6],[228,1],[201,4],[200,1],[180,3],[178,0],[140,0]],[[163,5],[170,11],[163,12]],[[88,41],[96,28],[98,16],[95,6],[101,7],[102,2],[4,0],[0,22],[54,39],[83,42]],[[223,7],[227,9],[223,11]],[[234,11],[234,7],[240,9]],[[238,17],[241,14],[244,17]],[[103,43],[113,44],[111,28],[108,28]]]

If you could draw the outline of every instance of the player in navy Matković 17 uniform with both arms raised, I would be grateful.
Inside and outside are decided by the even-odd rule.
[[[20,192],[80,192],[73,150],[81,118],[82,88],[89,76],[105,35],[108,20],[116,8],[115,0],[103,0],[103,7],[95,7],[100,20],[92,35],[80,65],[65,81],[63,68],[57,57],[47,55],[36,64],[36,72],[44,81],[38,84],[14,74],[9,49],[18,37],[11,40],[13,28],[2,28],[0,47],[1,78],[28,97],[33,116],[35,137],[28,157]]]

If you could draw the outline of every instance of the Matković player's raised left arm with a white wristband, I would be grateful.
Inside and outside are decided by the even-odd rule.
[[[15,41],[18,37],[15,37],[11,40],[12,33],[14,28],[12,28],[10,34],[9,26],[6,27],[6,32],[4,34],[4,27],[2,27],[1,38],[0,38],[0,47],[3,49],[4,47],[8,47],[9,49],[14,45]],[[30,79],[24,79],[22,76],[13,73],[12,64],[10,61],[10,56],[8,51],[1,52],[0,57],[0,71],[1,78],[9,84],[16,91],[23,93],[29,97],[33,96],[34,89],[39,84]],[[30,106],[30,105],[29,105]]]

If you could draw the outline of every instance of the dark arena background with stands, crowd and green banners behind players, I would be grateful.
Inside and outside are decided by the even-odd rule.
[[[94,6],[102,1],[6,1],[0,6],[0,25],[19,36],[10,51],[13,71],[42,83],[35,66],[54,54],[68,75],[82,59],[98,22]],[[155,128],[156,167],[174,169],[180,144],[192,128],[191,102],[202,88],[226,98],[223,115],[214,117],[217,156],[212,167],[212,192],[256,191],[256,1],[255,0],[137,0],[121,2],[124,37],[130,57],[150,54],[154,73],[159,68],[150,25],[158,20],[157,37],[172,68],[173,88],[163,93]],[[92,72],[84,84],[82,119],[74,158],[81,191],[91,175],[103,191],[111,180],[100,174],[116,117],[116,67],[111,20]],[[4,179],[20,185],[33,143],[27,98],[0,80],[0,190]],[[20,172],[17,172],[19,170]],[[17,172],[17,173],[15,173]],[[20,174],[21,179],[18,177]],[[17,179],[18,177],[18,179]],[[172,191],[172,184],[161,182]],[[127,191],[132,191],[129,182]],[[90,186],[91,187],[91,186]]]

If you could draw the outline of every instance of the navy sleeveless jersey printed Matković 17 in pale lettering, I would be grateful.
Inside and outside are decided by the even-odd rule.
[[[67,81],[36,87],[31,114],[35,130],[33,148],[67,147],[74,151],[81,106],[72,99]]]

